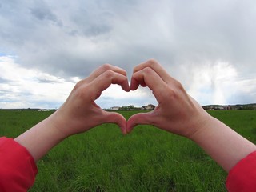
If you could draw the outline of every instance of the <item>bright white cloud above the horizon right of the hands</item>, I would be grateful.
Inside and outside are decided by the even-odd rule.
[[[254,102],[256,78],[241,78],[238,70],[228,62],[208,62],[186,69],[186,73],[188,70],[188,92],[202,105]]]

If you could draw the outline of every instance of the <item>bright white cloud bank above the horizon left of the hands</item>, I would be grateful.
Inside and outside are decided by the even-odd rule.
[[[59,107],[74,87],[74,82],[22,68],[11,56],[0,57],[0,76],[0,108]]]

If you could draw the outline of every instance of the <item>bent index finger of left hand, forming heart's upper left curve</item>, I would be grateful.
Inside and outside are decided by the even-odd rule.
[[[98,98],[98,95],[103,91],[106,90],[111,84],[118,84],[122,87],[122,90],[125,90],[126,92],[130,91],[130,86],[128,79],[126,76],[122,74],[118,74],[114,72],[113,70],[107,70],[101,75],[98,76],[98,78],[95,78],[92,83],[92,92],[94,94],[94,99]]]

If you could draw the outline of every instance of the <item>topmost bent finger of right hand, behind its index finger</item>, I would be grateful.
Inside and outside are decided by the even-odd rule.
[[[152,70],[154,70],[164,82],[169,82],[172,79],[170,75],[166,72],[166,70],[164,70],[163,67],[154,59],[142,62],[141,64],[136,66],[134,68],[134,73],[138,72],[139,70],[143,70],[146,67],[150,67]]]

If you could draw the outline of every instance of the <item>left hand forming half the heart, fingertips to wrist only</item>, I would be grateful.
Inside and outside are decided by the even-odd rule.
[[[108,122],[118,124],[122,133],[126,134],[126,119],[121,114],[102,110],[94,102],[111,84],[118,84],[122,90],[130,91],[126,71],[109,64],[101,66],[74,86],[66,102],[52,118],[64,137]]]

